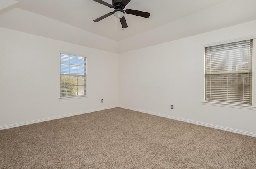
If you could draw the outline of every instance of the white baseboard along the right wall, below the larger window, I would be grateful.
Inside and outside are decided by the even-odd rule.
[[[248,132],[248,131],[242,131],[242,130],[238,130],[238,129],[232,129],[232,128],[228,128],[228,127],[223,127],[223,126],[218,126],[218,125],[213,125],[213,124],[208,124],[208,123],[202,123],[202,122],[199,122],[199,121],[183,119],[183,118],[180,118],[180,117],[174,117],[174,116],[164,115],[164,114],[160,114],[160,113],[154,113],[154,112],[151,112],[151,111],[144,111],[144,110],[140,110],[140,109],[134,109],[134,108],[131,108],[131,107],[125,107],[125,106],[121,106],[121,105],[119,105],[118,107],[138,111],[138,112],[141,112],[141,113],[156,115],[156,116],[160,116],[160,117],[166,117],[168,119],[174,119],[174,120],[184,121],[184,122],[192,123],[192,124],[196,124],[196,125],[202,125],[202,126],[210,127],[210,128],[214,128],[214,129],[230,131],[232,133],[238,133],[238,134],[242,134],[242,135],[248,135],[248,136],[251,136],[251,137],[256,137],[256,133],[251,133],[251,132]]]

